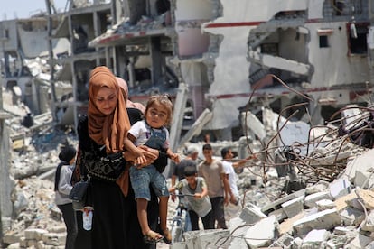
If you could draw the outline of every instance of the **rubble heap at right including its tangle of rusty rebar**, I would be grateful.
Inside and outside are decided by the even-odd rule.
[[[243,209],[229,221],[229,230],[187,232],[172,248],[374,248],[374,150],[362,143],[373,134],[362,116],[356,116],[356,124],[365,125],[337,126],[326,140],[317,135],[318,142],[279,146],[272,152],[282,152],[285,161],[272,167],[270,150],[261,152],[269,158],[239,174]],[[301,130],[291,124],[290,131],[296,125]],[[341,128],[351,131],[339,133]],[[305,148],[313,150],[303,153]],[[287,169],[282,176],[280,167]],[[248,185],[248,179],[257,183]]]

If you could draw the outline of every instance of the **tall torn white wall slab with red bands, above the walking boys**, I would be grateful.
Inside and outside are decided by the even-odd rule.
[[[217,130],[238,125],[238,107],[245,106],[251,92],[248,83],[248,33],[259,22],[266,22],[279,11],[299,10],[307,7],[308,1],[220,1],[223,15],[204,23],[203,32],[223,35],[220,52],[215,60],[214,82],[208,97],[213,101],[213,121],[210,129]],[[266,7],[267,6],[267,7]],[[224,96],[222,96],[224,93]],[[222,109],[225,112],[222,112]]]

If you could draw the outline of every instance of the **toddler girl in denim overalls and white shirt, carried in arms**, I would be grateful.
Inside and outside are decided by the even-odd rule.
[[[157,150],[164,149],[169,158],[179,163],[179,155],[173,153],[169,148],[169,132],[165,125],[170,124],[173,116],[173,103],[166,95],[157,95],[149,98],[145,106],[145,120],[133,124],[128,131],[126,143],[135,143],[136,146],[147,145]],[[128,147],[131,147],[128,144]],[[138,157],[142,161],[142,156]],[[137,163],[137,161],[135,161]],[[137,167],[136,164],[130,168],[131,186],[135,192],[137,218],[144,235],[146,243],[157,243],[164,238],[164,242],[170,244],[172,235],[166,226],[167,202],[169,192],[164,175],[157,171],[153,164],[145,167]],[[160,227],[163,235],[150,229],[147,221],[146,207],[150,200],[149,184],[160,198]]]

